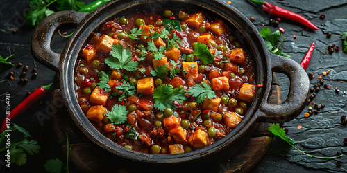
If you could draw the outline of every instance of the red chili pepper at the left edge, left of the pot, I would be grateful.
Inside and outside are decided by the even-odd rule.
[[[43,96],[46,95],[46,91],[49,90],[51,85],[52,84],[49,84],[46,86],[41,86],[39,89],[36,89],[33,93],[31,93],[31,95],[29,95],[26,99],[24,99],[23,102],[19,103],[18,106],[15,107],[15,109],[13,109],[10,112],[10,120],[12,120],[13,118],[18,116],[19,114],[26,111],[26,109],[31,107],[31,105],[33,105],[35,102],[37,102],[37,100],[40,100],[41,98],[43,98]],[[6,122],[7,122],[6,120],[7,120],[7,118],[5,120],[3,120],[1,129],[0,129],[0,133],[2,133],[6,128]]]

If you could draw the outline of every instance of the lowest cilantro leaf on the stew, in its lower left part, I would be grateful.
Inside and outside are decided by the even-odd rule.
[[[126,115],[128,113],[129,112],[126,110],[124,105],[115,104],[111,111],[108,111],[106,116],[108,116],[108,118],[110,118],[110,120],[117,125],[126,122]]]

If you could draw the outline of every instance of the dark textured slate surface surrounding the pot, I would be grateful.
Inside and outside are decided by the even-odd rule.
[[[90,1],[86,2],[89,3]],[[224,1],[224,3],[226,2]],[[302,28],[305,28],[304,26],[287,19],[282,19],[278,26],[285,28],[282,37],[286,37],[280,49],[291,55],[296,62],[301,62],[310,44],[316,42],[312,60],[307,68],[307,73],[313,72],[316,77],[311,80],[311,86],[318,82],[318,76],[323,71],[330,70],[330,73],[323,76],[323,79],[325,84],[331,86],[331,89],[321,87],[321,91],[317,93],[316,98],[313,100],[317,104],[325,104],[325,109],[319,111],[317,115],[305,118],[306,108],[298,118],[284,123],[283,127],[289,129],[288,136],[296,140],[295,146],[309,154],[334,156],[336,152],[339,152],[340,154],[344,153],[344,156],[334,160],[310,158],[289,147],[283,141],[276,139],[273,140],[269,151],[252,172],[347,172],[347,147],[343,143],[343,139],[347,137],[347,127],[341,125],[340,121],[341,115],[347,114],[347,55],[342,50],[332,54],[325,53],[325,51],[328,51],[329,44],[342,46],[340,35],[347,31],[347,1],[285,0],[269,1],[269,3],[297,12],[319,27],[319,30],[315,31],[302,30]],[[28,78],[26,85],[18,83],[22,68],[17,69],[9,66],[0,73],[0,107],[1,115],[4,115],[5,103],[3,100],[5,94],[11,94],[10,105],[14,108],[24,100],[28,91],[32,92],[35,88],[53,82],[55,72],[37,63],[31,55],[30,42],[34,28],[24,24],[22,15],[23,11],[28,10],[28,1],[0,0],[0,4],[0,55],[7,57],[15,53],[15,57],[12,57],[10,62],[13,64],[21,62],[23,66],[26,65],[29,68],[26,75],[26,78]],[[232,1],[230,6],[237,7],[248,18],[255,17],[256,20],[253,24],[259,30],[265,27],[269,27],[271,30],[278,29],[278,27],[269,26],[269,19],[276,19],[277,17],[266,14],[248,1],[235,0]],[[319,19],[321,14],[325,15],[325,19]],[[14,33],[12,30],[17,32]],[[326,37],[328,32],[332,33],[332,37]],[[293,35],[296,35],[296,39]],[[61,51],[66,40],[56,37],[56,42],[52,45],[53,50]],[[37,68],[38,75],[37,78],[32,80],[31,70],[34,67]],[[10,71],[15,73],[15,80],[6,80],[6,76]],[[279,75],[279,81],[282,89],[282,99],[285,100],[289,81],[285,75]],[[334,91],[335,87],[338,87],[341,91],[336,93]],[[27,156],[28,162],[26,165],[21,167],[12,165],[12,172],[16,170],[37,170],[42,172],[44,163],[51,158],[60,158],[65,162],[65,156],[61,153],[60,146],[55,143],[56,139],[51,129],[52,122],[49,120],[51,114],[46,104],[47,100],[49,100],[49,96],[13,121],[26,128],[33,135],[33,138],[39,140],[42,150],[40,154]],[[46,116],[42,116],[42,113]],[[2,122],[3,116],[0,120]],[[298,125],[303,128],[297,129]],[[4,170],[3,160],[2,158],[0,160],[1,172]],[[339,168],[335,167],[337,160],[343,162]],[[70,168],[74,170],[71,165]]]

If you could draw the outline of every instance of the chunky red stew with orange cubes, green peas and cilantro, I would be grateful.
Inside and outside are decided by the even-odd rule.
[[[242,121],[255,97],[254,69],[237,37],[205,12],[137,11],[92,33],[76,93],[92,125],[118,145],[180,154]]]

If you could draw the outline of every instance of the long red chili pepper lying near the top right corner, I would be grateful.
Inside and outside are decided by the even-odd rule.
[[[296,14],[295,12],[285,10],[283,8],[275,6],[266,1],[257,1],[257,0],[251,0],[251,1],[255,3],[257,6],[261,7],[262,10],[264,10],[265,12],[268,12],[271,15],[276,15],[278,17],[296,21],[300,24],[303,24],[304,26],[307,26],[307,28],[310,28],[312,30],[318,30],[318,28],[314,24],[312,24],[311,21],[307,20],[305,17],[301,15]]]

